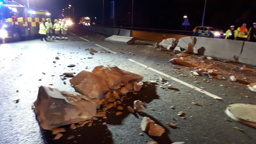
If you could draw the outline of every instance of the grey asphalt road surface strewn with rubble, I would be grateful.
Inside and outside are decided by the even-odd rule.
[[[207,77],[179,76],[174,66],[168,63],[173,58],[168,55],[169,52],[141,44],[108,43],[104,42],[105,37],[70,29],[67,41],[41,42],[35,39],[0,45],[1,144],[146,144],[149,141],[158,141],[159,144],[177,141],[184,141],[185,144],[256,143],[256,129],[234,121],[225,114],[225,108],[233,103],[256,105],[256,93],[249,91],[246,85]],[[102,53],[91,55],[86,50],[88,48]],[[60,59],[56,60],[56,56]],[[69,68],[69,64],[76,66]],[[121,104],[124,107],[123,114],[116,116],[112,113],[116,111],[115,108],[107,113],[107,119],[102,119],[107,125],[95,121],[91,127],[85,125],[75,130],[71,130],[69,125],[62,126],[67,131],[63,132],[60,139],[53,140],[51,131],[40,128],[31,108],[39,86],[74,91],[69,78],[64,80],[67,83],[64,84],[59,75],[65,72],[92,71],[99,65],[115,65],[141,74],[144,81],[165,77],[173,89],[163,90],[159,88],[160,85],[144,87],[137,95],[128,95],[130,99]],[[182,68],[185,74],[193,70]],[[204,82],[204,79],[209,83]],[[226,87],[220,87],[220,84]],[[199,90],[191,88],[191,85]],[[200,87],[204,87],[205,91],[200,91]],[[215,96],[223,100],[215,100]],[[146,109],[135,114],[129,113],[126,106],[132,106],[134,100],[143,101]],[[191,104],[194,101],[200,105]],[[171,109],[171,106],[176,109]],[[186,113],[186,119],[177,115],[180,111]],[[161,137],[148,136],[140,129],[143,116],[163,126],[166,132]],[[167,122],[175,123],[178,128],[169,127]],[[75,138],[67,140],[69,135]]]

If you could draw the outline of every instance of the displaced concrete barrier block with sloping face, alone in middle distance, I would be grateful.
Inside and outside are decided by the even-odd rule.
[[[106,42],[113,42],[113,43],[121,43],[121,44],[133,44],[134,40],[133,37],[127,37],[127,36],[117,36],[112,35],[105,39]]]

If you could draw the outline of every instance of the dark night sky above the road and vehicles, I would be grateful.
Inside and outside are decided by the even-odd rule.
[[[16,0],[26,5],[26,0]],[[104,0],[105,25],[113,25],[110,19],[110,1]],[[61,9],[71,4],[75,8],[74,20],[90,16],[92,21],[97,17],[102,23],[102,0],[30,0],[31,7],[48,9],[53,18],[61,13]],[[129,26],[132,0],[115,0],[115,24]],[[192,30],[202,22],[204,0],[134,0],[134,27],[177,29],[182,30],[183,16],[187,15]],[[226,30],[230,25],[240,26],[246,22],[256,22],[256,0],[207,0],[205,24]],[[130,19],[131,22],[131,19]],[[249,26],[247,26],[249,27]]]

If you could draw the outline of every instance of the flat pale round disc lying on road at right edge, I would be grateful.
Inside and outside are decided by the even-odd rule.
[[[226,108],[226,114],[242,124],[256,128],[256,105],[231,104]]]

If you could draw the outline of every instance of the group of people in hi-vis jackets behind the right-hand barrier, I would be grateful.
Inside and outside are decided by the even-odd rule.
[[[243,25],[236,30],[233,25],[229,28],[230,29],[226,31],[225,39],[256,42],[256,23],[252,23],[249,30],[246,28],[246,23],[243,23]]]

